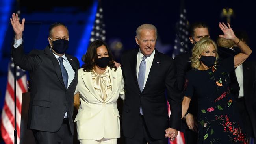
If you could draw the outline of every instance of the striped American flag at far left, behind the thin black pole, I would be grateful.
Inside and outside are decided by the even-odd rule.
[[[24,70],[19,66],[16,71],[16,111],[17,111],[17,144],[20,143],[20,118],[21,118],[21,102],[22,93],[27,92],[27,76]],[[4,107],[2,109],[1,133],[6,144],[14,144],[14,63],[11,61],[8,65],[8,77],[6,86],[6,96]]]

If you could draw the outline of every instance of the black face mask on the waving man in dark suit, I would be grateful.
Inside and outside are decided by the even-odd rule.
[[[69,48],[69,41],[66,39],[58,39],[58,40],[52,41],[52,49],[57,54],[64,54],[68,48]]]

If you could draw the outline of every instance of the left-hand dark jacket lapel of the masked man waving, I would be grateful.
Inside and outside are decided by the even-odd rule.
[[[52,64],[54,66],[54,70],[58,76],[58,79],[59,79],[60,83],[63,85],[63,87],[66,89],[66,87],[64,85],[63,78],[61,76],[61,69],[60,69],[58,60],[56,59],[56,57],[54,56],[54,54],[52,53],[52,51],[50,50],[50,48],[48,46],[45,48],[44,51],[45,51],[45,54],[48,55],[48,57],[52,60]]]

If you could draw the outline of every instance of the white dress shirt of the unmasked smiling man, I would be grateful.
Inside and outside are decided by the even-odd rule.
[[[139,50],[138,55],[137,55],[137,66],[136,66],[137,79],[138,79],[138,74],[139,74],[139,65],[141,64],[143,56],[144,55],[141,53],[141,50]],[[145,59],[145,61],[146,61],[146,72],[145,72],[145,79],[144,79],[143,87],[145,87],[145,85],[146,85],[146,82],[147,82],[147,79],[148,79],[148,74],[150,72],[150,68],[152,66],[154,56],[155,56],[155,50],[152,52],[152,54],[149,57],[147,57]]]

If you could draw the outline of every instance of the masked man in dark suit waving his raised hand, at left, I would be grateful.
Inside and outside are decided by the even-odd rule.
[[[25,19],[20,24],[13,13],[11,24],[15,32],[13,61],[30,73],[30,106],[28,128],[33,130],[37,144],[72,144],[74,91],[79,62],[65,54],[69,31],[64,24],[49,28],[49,46],[25,55],[22,44]]]

